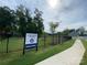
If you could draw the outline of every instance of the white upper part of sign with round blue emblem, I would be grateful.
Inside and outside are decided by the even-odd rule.
[[[36,33],[26,33],[25,44],[36,44],[36,43],[37,43],[37,34]]]

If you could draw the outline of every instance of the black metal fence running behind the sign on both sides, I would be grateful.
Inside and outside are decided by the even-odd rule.
[[[70,36],[62,34],[43,34],[39,37],[39,48],[63,44],[70,40]],[[24,37],[12,35],[0,35],[0,53],[18,52],[23,50]]]

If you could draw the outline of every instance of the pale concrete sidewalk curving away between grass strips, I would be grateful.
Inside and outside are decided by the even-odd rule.
[[[81,41],[76,40],[72,47],[35,65],[79,65],[84,52],[85,48],[81,44]]]

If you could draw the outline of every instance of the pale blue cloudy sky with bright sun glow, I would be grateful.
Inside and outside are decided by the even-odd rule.
[[[50,32],[50,22],[59,22],[56,31],[80,26],[87,30],[87,0],[0,0],[0,7],[15,9],[20,4],[32,12],[35,8],[43,12],[46,32]]]

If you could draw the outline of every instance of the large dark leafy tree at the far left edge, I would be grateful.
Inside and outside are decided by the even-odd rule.
[[[2,37],[7,39],[7,53],[9,45],[9,36],[13,31],[14,26],[14,11],[9,9],[8,7],[0,7],[0,34]]]

